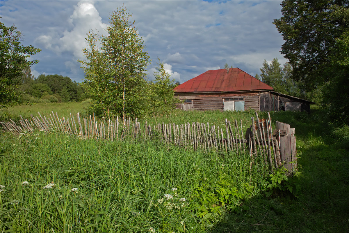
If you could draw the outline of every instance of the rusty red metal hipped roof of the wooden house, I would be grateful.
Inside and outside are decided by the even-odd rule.
[[[239,68],[209,70],[177,87],[174,92],[232,92],[241,90],[273,90],[272,87],[254,78]]]

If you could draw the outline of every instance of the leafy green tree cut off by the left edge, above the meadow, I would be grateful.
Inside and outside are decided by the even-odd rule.
[[[0,22],[0,108],[18,103],[21,97],[18,85],[26,67],[39,61],[28,61],[30,55],[40,52],[34,46],[21,45],[22,34],[15,26]]]

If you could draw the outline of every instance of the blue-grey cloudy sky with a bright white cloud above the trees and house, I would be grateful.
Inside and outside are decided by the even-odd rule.
[[[274,19],[281,1],[0,1],[1,22],[22,31],[23,45],[42,51],[30,59],[40,62],[32,74],[61,74],[82,82],[84,72],[77,59],[91,29],[103,32],[108,17],[124,6],[143,37],[152,63],[157,58],[172,78],[183,83],[207,70],[239,67],[254,76],[263,60],[285,59],[284,43]]]

